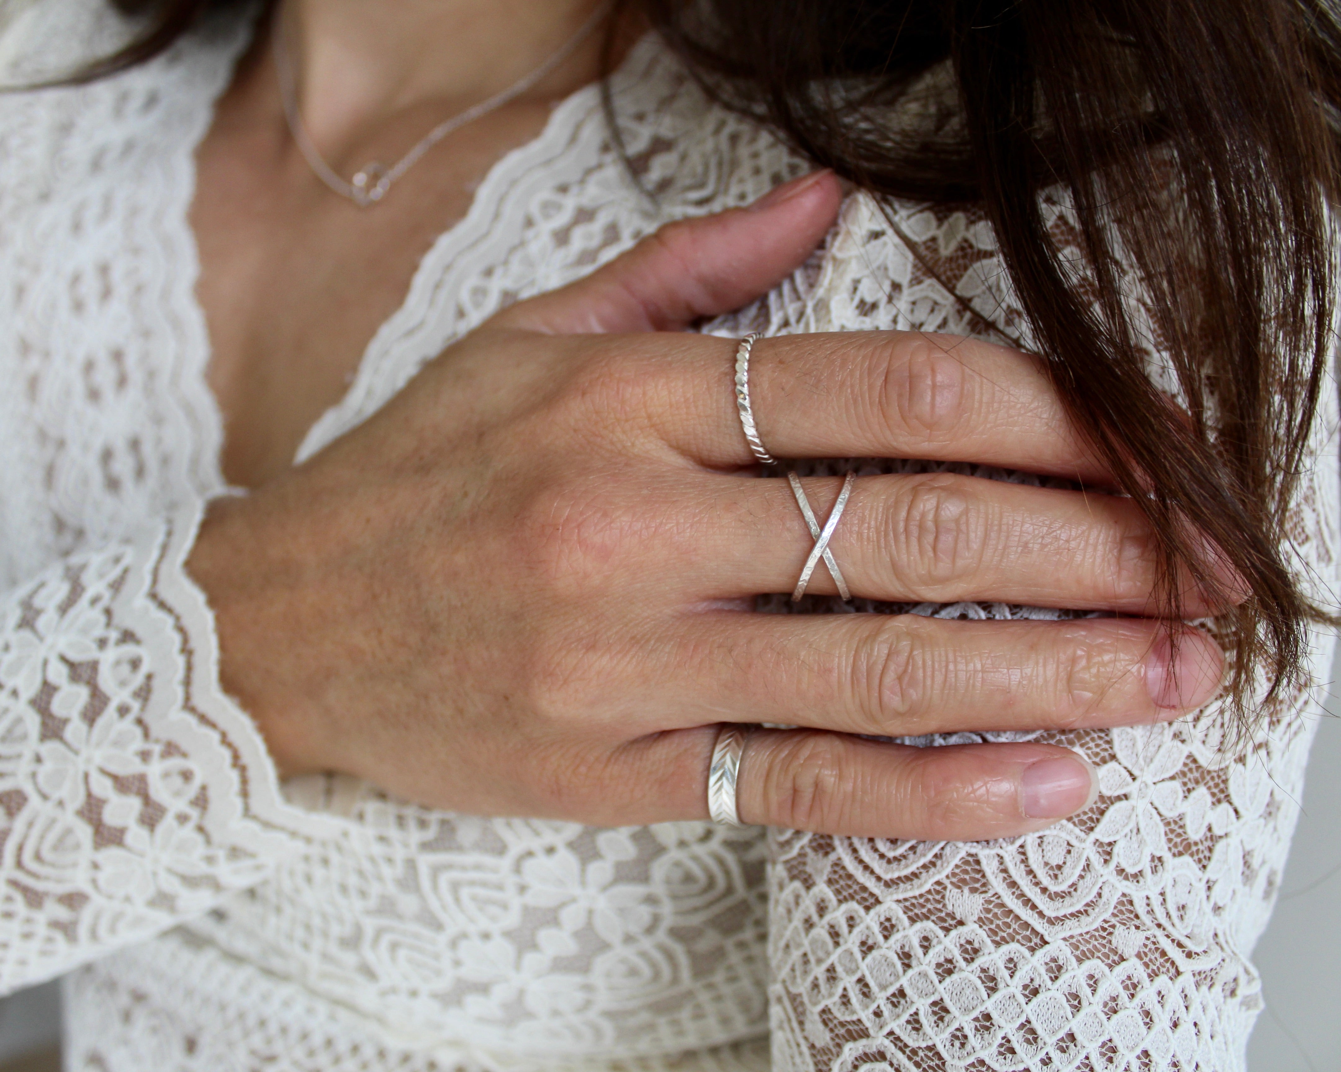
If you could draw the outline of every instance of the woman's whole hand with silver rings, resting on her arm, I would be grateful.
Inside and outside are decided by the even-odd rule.
[[[707,815],[720,722],[751,734],[746,821],[978,839],[1092,799],[1066,749],[862,740],[1114,726],[1219,687],[1200,632],[1140,618],[764,615],[813,540],[754,478],[735,342],[683,328],[767,291],[833,222],[811,176],[676,224],[495,316],[385,409],[212,508],[190,570],[224,686],[286,773],[331,769],[430,807],[625,825]],[[756,344],[779,457],[987,462],[1102,482],[1031,358],[907,332]],[[837,480],[807,480],[823,517]],[[865,477],[830,544],[857,596],[1143,614],[1132,503],[948,474]],[[833,592],[817,570],[811,591]],[[1200,614],[1193,594],[1185,610]],[[1184,632],[1169,666],[1168,630]]]

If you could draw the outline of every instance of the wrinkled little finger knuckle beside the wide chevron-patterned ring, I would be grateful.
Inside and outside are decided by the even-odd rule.
[[[794,732],[772,750],[764,784],[772,823],[790,829],[834,831],[852,805],[848,749],[830,733]]]

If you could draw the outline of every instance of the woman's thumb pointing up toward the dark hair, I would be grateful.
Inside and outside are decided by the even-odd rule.
[[[841,201],[834,173],[813,172],[748,208],[666,224],[586,279],[519,302],[492,323],[551,335],[680,331],[767,293],[810,256]]]

